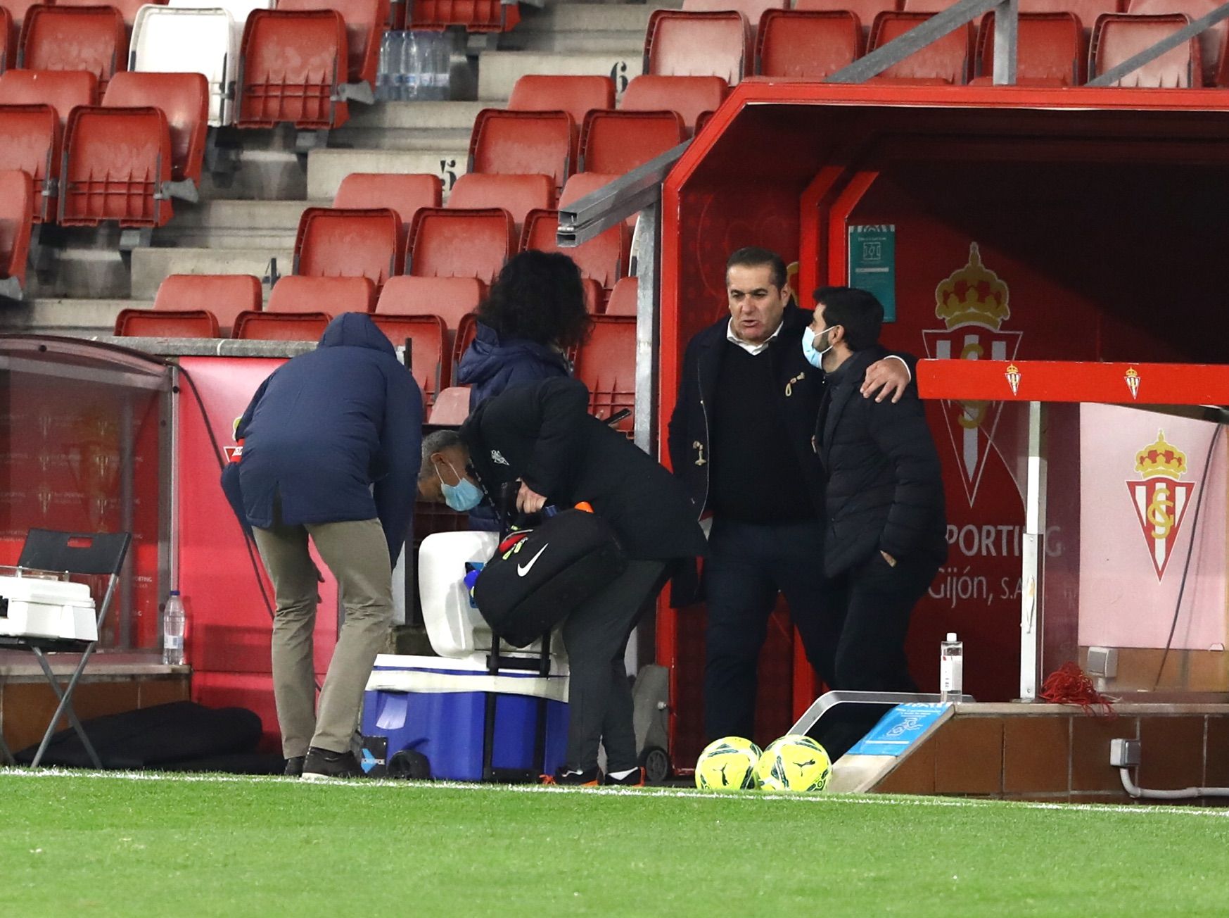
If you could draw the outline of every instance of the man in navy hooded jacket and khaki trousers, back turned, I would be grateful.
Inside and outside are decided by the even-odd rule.
[[[350,743],[392,621],[392,566],[409,528],[423,396],[388,338],[339,315],[320,347],[261,384],[235,431],[242,459],[222,487],[252,528],[273,581],[273,692],[286,773],[361,774]],[[316,711],[312,543],[337,577],[345,623]]]

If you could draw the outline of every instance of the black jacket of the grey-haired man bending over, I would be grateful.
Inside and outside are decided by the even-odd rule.
[[[461,427],[488,493],[522,479],[548,505],[592,505],[628,557],[704,554],[704,534],[680,484],[622,433],[589,413],[575,379],[516,385],[479,405]]]

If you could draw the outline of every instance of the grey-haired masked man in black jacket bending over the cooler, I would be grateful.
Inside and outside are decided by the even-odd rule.
[[[606,747],[606,784],[639,784],[627,641],[676,561],[704,554],[704,534],[682,486],[618,431],[589,413],[589,390],[575,379],[506,389],[484,401],[460,432],[423,441],[419,496],[463,509],[458,495],[499,493],[520,481],[516,507],[587,502],[628,556],[606,589],[563,621],[570,672],[568,748],[560,784],[596,784],[597,747]]]

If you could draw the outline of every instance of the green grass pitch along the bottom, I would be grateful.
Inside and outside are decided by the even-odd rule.
[[[0,916],[1224,916],[1229,811],[0,770]]]

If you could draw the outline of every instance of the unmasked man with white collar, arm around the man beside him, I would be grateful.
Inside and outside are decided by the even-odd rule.
[[[779,594],[820,668],[825,598],[823,475],[811,434],[822,370],[800,340],[811,314],[793,303],[780,256],[740,249],[725,268],[729,314],[687,345],[670,418],[670,459],[697,516],[712,512],[704,733],[751,738],[756,668]],[[903,358],[868,368],[862,394],[900,399]],[[823,671],[821,669],[821,673]]]

